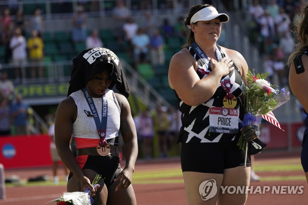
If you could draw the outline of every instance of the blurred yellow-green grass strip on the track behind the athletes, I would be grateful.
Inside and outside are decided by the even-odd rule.
[[[257,160],[253,165],[253,169],[258,175],[261,175],[261,181],[306,180],[300,158]],[[288,175],[288,172],[295,172],[295,174]],[[180,167],[136,170],[132,181],[133,184],[184,183]],[[12,183],[6,184],[7,187],[16,185]],[[59,185],[66,185],[66,182],[62,180]],[[18,186],[54,186],[54,183],[52,178],[47,182],[26,182],[26,179],[22,179]]]

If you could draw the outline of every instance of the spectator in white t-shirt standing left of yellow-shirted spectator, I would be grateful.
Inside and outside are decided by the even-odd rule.
[[[27,41],[21,34],[20,28],[15,28],[14,36],[10,40],[10,49],[12,50],[12,60],[15,66],[16,81],[20,81],[20,71],[24,69],[27,61]]]

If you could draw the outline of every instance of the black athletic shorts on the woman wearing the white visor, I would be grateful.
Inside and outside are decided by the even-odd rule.
[[[237,140],[217,143],[182,142],[182,171],[223,174],[224,169],[244,166],[245,149],[240,150],[236,143]],[[249,153],[246,166],[251,166]]]

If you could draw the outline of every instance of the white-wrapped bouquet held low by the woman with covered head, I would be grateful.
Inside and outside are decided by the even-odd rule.
[[[103,182],[102,175],[96,175],[92,182],[92,186],[95,188],[99,183]],[[87,188],[86,191],[74,191],[74,192],[63,192],[63,196],[58,199],[51,200],[46,204],[56,202],[57,205],[90,205],[93,204],[94,200],[90,196],[92,191]],[[45,204],[45,205],[46,205]]]

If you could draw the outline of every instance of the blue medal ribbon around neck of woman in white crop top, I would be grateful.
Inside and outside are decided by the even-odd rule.
[[[91,113],[94,114],[94,122],[96,125],[96,129],[100,138],[99,146],[106,147],[107,142],[105,140],[106,137],[106,130],[107,130],[107,98],[106,93],[103,93],[102,95],[102,120],[99,119],[99,116],[97,115],[97,110],[95,107],[95,104],[93,102],[92,96],[89,94],[87,87],[82,89],[84,97],[87,99],[87,103],[90,107]]]

